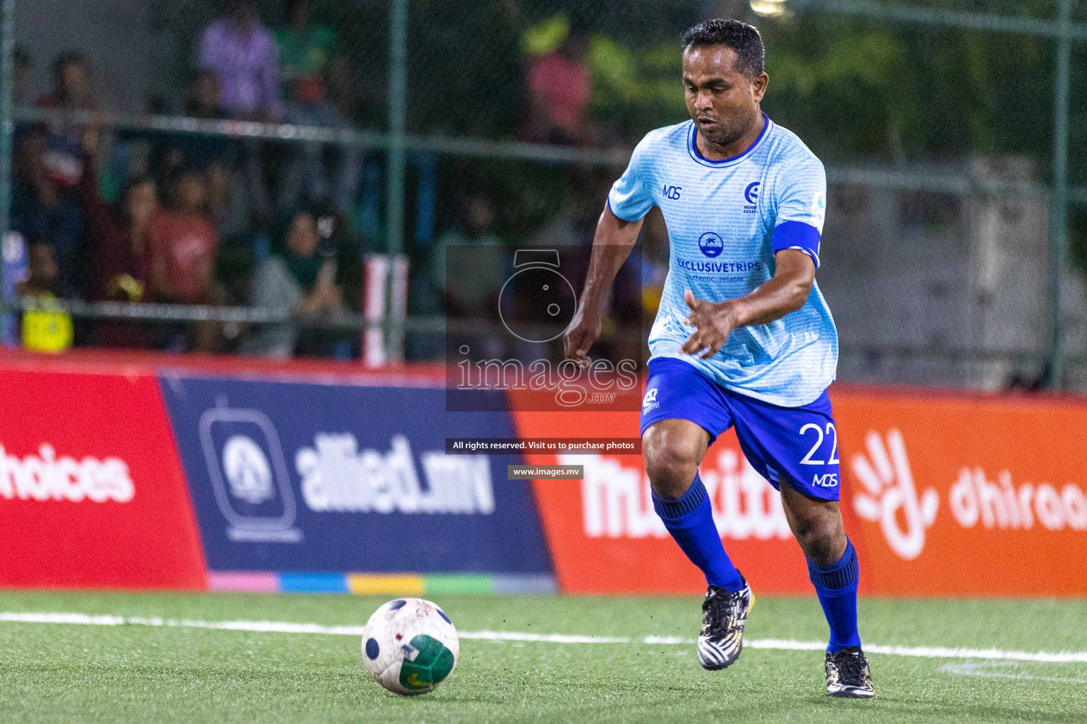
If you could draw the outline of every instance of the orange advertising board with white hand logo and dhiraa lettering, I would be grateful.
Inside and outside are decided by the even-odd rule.
[[[832,398],[862,592],[1087,595],[1087,403]]]

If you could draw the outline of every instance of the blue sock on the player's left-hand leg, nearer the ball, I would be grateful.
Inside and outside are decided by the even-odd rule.
[[[653,510],[664,521],[664,528],[669,529],[690,562],[702,569],[708,584],[728,590],[744,588],[740,572],[728,560],[728,554],[721,544],[717,526],[713,524],[710,496],[697,472],[695,482],[676,500],[669,500],[653,493]]]

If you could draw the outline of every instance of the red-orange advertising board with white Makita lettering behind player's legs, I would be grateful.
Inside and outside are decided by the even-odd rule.
[[[629,437],[637,412],[515,412],[518,434]],[[633,432],[632,432],[633,431]],[[653,511],[640,455],[528,455],[534,465],[582,465],[584,480],[535,481],[536,505],[565,593],[704,593],[705,580],[669,537]],[[701,469],[714,519],[736,566],[764,593],[809,587],[780,497],[744,459],[728,432]]]

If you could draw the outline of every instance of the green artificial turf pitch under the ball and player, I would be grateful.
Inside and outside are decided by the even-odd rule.
[[[360,625],[386,597],[0,592],[0,611]],[[463,632],[629,644],[461,640],[422,697],[380,689],[355,636],[0,622],[2,722],[1087,722],[1087,663],[870,657],[871,701],[828,699],[820,651],[748,648],[698,666],[696,598],[445,595]],[[749,639],[825,639],[814,598],[759,597]],[[861,601],[866,643],[1087,651],[1087,601]],[[965,665],[964,665],[965,664]],[[954,672],[949,672],[947,668]],[[1033,677],[1033,678],[1026,678]]]

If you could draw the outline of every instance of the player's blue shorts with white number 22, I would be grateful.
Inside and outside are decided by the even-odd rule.
[[[785,479],[805,495],[838,499],[838,431],[826,390],[803,407],[779,407],[726,390],[682,359],[651,359],[641,432],[676,418],[710,433],[711,445],[735,425],[744,456],[775,488]]]

